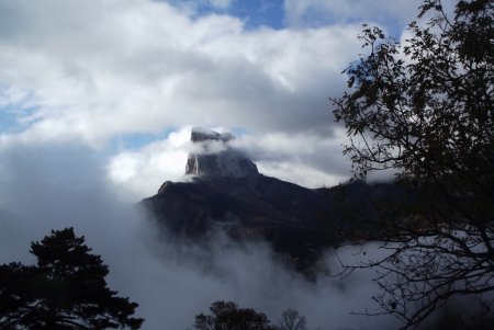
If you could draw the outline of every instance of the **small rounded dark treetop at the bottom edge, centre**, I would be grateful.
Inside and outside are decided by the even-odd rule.
[[[195,316],[198,330],[276,330],[262,312],[251,308],[239,308],[232,301],[215,301],[210,307],[212,315]]]

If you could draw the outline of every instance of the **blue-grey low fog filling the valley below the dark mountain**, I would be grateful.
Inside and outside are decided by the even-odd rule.
[[[120,200],[105,179],[104,164],[91,155],[78,148],[4,152],[0,263],[33,263],[32,240],[72,226],[110,265],[110,287],[139,304],[143,329],[191,328],[194,316],[220,299],[266,312],[272,321],[284,309],[295,308],[310,329],[396,328],[390,316],[350,315],[377,307],[370,271],[345,281],[321,274],[314,283],[277,262],[263,244],[238,247],[221,235],[210,238],[207,251],[194,242],[173,243],[158,235],[135,205]],[[338,255],[356,258],[350,249]],[[334,252],[326,262],[337,271]]]

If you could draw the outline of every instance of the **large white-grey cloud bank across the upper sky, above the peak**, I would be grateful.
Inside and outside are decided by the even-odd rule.
[[[29,110],[29,140],[332,126],[326,99],[358,53],[357,26],[246,31],[238,19],[193,19],[159,1],[2,1],[0,13],[2,104]]]

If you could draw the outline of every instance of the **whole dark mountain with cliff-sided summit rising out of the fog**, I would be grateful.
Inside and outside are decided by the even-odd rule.
[[[282,259],[307,271],[314,270],[328,247],[345,239],[340,229],[364,228],[351,215],[356,208],[371,213],[370,196],[390,194],[389,184],[356,182],[312,190],[262,175],[231,146],[232,139],[231,134],[192,129],[194,151],[186,166],[190,180],[167,181],[142,202],[160,226],[178,237],[200,239],[222,229],[238,241],[263,240]],[[351,212],[346,216],[341,210]]]

